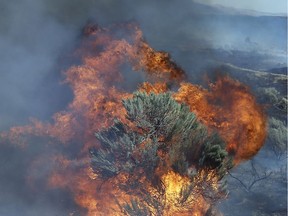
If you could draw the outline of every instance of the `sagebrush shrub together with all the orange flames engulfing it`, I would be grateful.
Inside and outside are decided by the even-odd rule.
[[[51,122],[0,136],[18,145],[55,140],[48,187],[68,190],[89,216],[205,215],[225,195],[230,157],[234,164],[250,159],[264,143],[266,116],[247,86],[229,77],[208,89],[184,82],[181,67],[151,48],[135,24],[90,28],[75,56],[81,64],[64,73],[74,95],[67,108]],[[152,83],[140,91],[149,94],[125,91],[126,65],[145,72]],[[170,87],[179,89],[167,93]],[[46,153],[37,164],[47,163]]]

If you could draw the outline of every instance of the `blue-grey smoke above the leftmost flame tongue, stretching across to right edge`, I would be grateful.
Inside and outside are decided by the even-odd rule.
[[[205,71],[208,60],[221,60],[218,52],[195,53],[195,50],[207,48],[252,52],[274,47],[277,52],[282,50],[278,59],[281,64],[286,62],[283,58],[286,30],[282,28],[285,19],[272,22],[268,18],[263,21],[251,18],[253,22],[247,25],[241,17],[219,17],[216,16],[219,12],[207,6],[190,1],[179,4],[172,0],[137,3],[128,0],[18,0],[0,4],[0,47],[3,50],[0,53],[0,99],[5,101],[0,108],[1,129],[27,123],[29,116],[48,118],[65,107],[71,95],[66,86],[59,85],[63,69],[59,67],[63,64],[59,64],[59,58],[73,48],[81,28],[89,20],[104,26],[137,21],[149,44],[171,53],[188,73]],[[224,54],[235,56],[235,53]],[[208,60],[204,60],[205,55],[209,55]],[[239,59],[236,56],[232,60],[243,65],[241,60],[235,60],[237,57]]]

